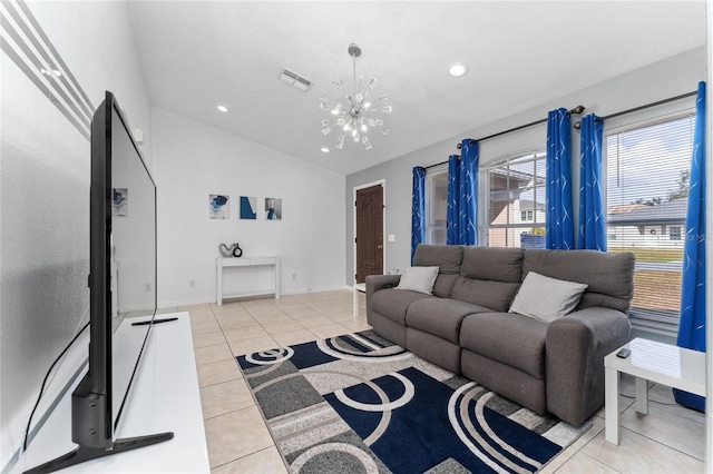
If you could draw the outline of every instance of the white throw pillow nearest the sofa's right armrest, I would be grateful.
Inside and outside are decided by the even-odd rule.
[[[529,271],[515,296],[510,313],[551,323],[574,310],[587,286]]]

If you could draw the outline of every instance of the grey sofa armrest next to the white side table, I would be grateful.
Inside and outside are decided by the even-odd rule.
[[[632,325],[616,309],[590,307],[547,329],[547,411],[582,425],[604,404],[604,356],[626,344]]]

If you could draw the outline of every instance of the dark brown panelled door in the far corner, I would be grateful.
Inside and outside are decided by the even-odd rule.
[[[383,187],[356,191],[356,283],[383,274]]]

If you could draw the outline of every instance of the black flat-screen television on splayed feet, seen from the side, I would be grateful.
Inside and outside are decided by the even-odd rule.
[[[115,437],[155,315],[156,185],[107,91],[91,119],[89,368],[71,395],[77,448],[28,472],[58,471],[173,438],[170,432]],[[129,344],[117,353],[114,322],[124,316],[148,317],[131,326]]]

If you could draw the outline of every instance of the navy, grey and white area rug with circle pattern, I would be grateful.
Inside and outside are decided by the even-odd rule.
[[[237,362],[294,473],[537,472],[590,427],[538,416],[372,330]]]

